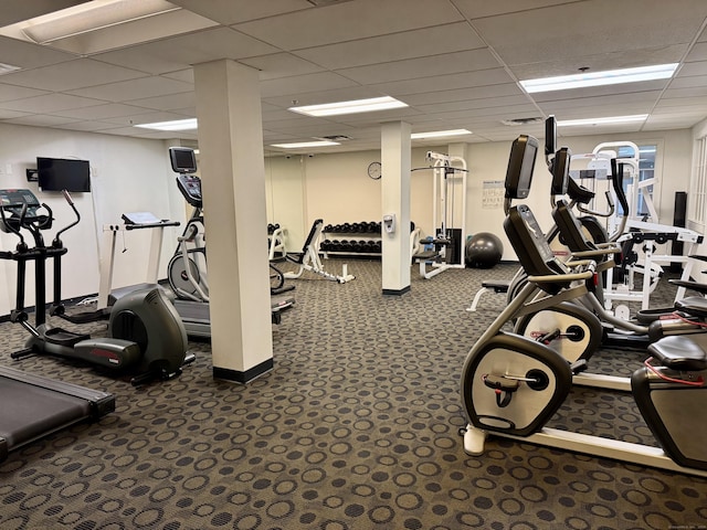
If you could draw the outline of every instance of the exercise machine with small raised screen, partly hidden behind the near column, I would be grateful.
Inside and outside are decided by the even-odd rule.
[[[198,244],[198,247],[191,251],[188,251],[184,244],[184,241],[192,241],[199,235],[203,240],[201,179],[193,174],[197,171],[197,157],[191,148],[170,147],[169,158],[172,170],[178,173],[177,187],[184,200],[194,209],[180,237],[180,244],[168,265],[167,276],[176,295],[172,304],[181,317],[189,337],[210,338],[211,318],[208,292],[201,287],[199,272],[196,271],[196,266],[192,265],[192,259],[189,257],[190,252],[205,254],[205,242],[202,241],[202,244]],[[184,256],[187,257],[184,258]],[[288,294],[293,289],[294,286],[271,289],[271,320],[273,324],[279,324],[282,312],[294,306],[295,298]]]

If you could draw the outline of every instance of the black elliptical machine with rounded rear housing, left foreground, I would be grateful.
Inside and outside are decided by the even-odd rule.
[[[0,259],[11,259],[18,264],[17,304],[10,320],[20,324],[31,335],[25,348],[13,352],[11,357],[22,359],[39,353],[78,359],[110,371],[136,373],[131,380],[136,386],[155,379],[179,375],[181,367],[192,362],[194,356],[187,353],[184,328],[160,289],[137,290],[122,298],[110,312],[107,338],[92,339],[85,333],[48,325],[46,262],[52,261],[54,279],[54,300],[50,314],[62,316],[65,309],[61,301],[61,257],[67,248],[61,235],[81,221],[71,197],[66,191],[63,193],[76,219],[59,230],[51,245],[46,245],[43,232],[53,225],[52,210],[46,204],[40,204],[30,190],[0,190],[0,230],[20,240],[14,251],[0,252]],[[33,247],[27,244],[23,230],[32,235]],[[28,262],[34,262],[34,325],[30,324],[24,310]]]

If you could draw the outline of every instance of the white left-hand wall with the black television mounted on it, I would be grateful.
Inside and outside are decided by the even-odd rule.
[[[0,125],[0,188],[28,188],[53,210],[55,227],[73,220],[73,213],[61,193],[41,192],[36,182],[28,182],[25,169],[36,167],[36,157],[80,158],[92,169],[92,192],[74,193],[82,220],[63,235],[68,253],[63,258],[62,297],[77,297],[98,292],[98,245],[103,245],[103,225],[119,223],[123,212],[151,211],[160,219],[183,222],[183,199],[173,182],[167,144],[118,136]],[[45,240],[51,242],[55,229]],[[114,286],[144,282],[150,234],[147,230],[118,236]],[[168,229],[162,245],[160,276],[166,276],[167,262],[175,250],[180,229]],[[0,247],[13,250],[17,237],[0,235]],[[126,248],[125,252],[123,250]],[[15,271],[13,262],[0,265],[0,315],[14,307]],[[33,264],[29,264],[31,273]],[[34,275],[28,275],[25,305],[34,305]],[[51,269],[48,293],[51,293]],[[48,294],[48,300],[51,295]]]

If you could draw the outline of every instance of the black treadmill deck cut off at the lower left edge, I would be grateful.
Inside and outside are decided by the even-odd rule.
[[[115,396],[0,367],[0,462],[11,451],[115,411]]]

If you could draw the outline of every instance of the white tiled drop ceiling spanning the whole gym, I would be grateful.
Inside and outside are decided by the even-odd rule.
[[[0,63],[20,68],[0,75],[0,123],[171,139],[134,125],[196,117],[191,66],[219,59],[260,71],[270,153],[271,144],[339,135],[350,139],[320,152],[378,149],[390,120],[413,132],[466,128],[461,141],[484,142],[541,136],[540,124],[504,121],[550,114],[650,115],[563,136],[684,129],[707,117],[705,0],[170,1],[181,9],[46,44],[0,35]],[[0,28],[80,3],[4,0]],[[532,95],[518,85],[673,62],[665,81]],[[384,95],[409,107],[328,118],[287,110]]]

